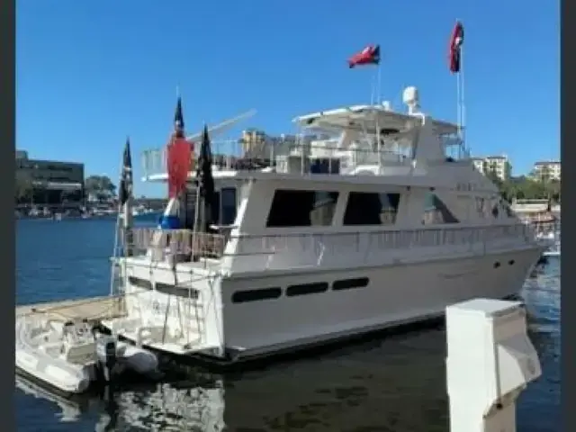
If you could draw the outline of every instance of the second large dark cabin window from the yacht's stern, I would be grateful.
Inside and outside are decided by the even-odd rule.
[[[396,222],[400,193],[348,194],[344,225],[392,225]]]

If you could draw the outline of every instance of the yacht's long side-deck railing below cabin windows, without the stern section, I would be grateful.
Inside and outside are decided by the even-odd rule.
[[[486,228],[404,229],[373,232],[241,236],[235,242],[234,272],[383,266],[437,257],[482,256],[534,242],[525,225]]]

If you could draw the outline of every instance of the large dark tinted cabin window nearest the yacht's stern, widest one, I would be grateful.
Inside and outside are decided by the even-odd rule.
[[[275,191],[267,227],[311,227],[331,225],[338,192]]]

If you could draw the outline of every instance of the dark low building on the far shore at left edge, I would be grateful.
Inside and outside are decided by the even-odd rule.
[[[23,150],[16,150],[15,162],[16,184],[21,189],[18,201],[42,204],[82,201],[84,164],[30,159]]]

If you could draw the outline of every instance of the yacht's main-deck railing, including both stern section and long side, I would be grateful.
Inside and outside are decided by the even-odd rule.
[[[350,233],[235,235],[189,229],[134,229],[133,249],[156,260],[170,257],[231,257],[236,271],[306,266],[382,265],[385,262],[447,255],[484,255],[535,241],[525,224],[479,228],[379,230]],[[179,258],[182,261],[183,258]]]

